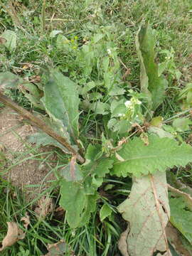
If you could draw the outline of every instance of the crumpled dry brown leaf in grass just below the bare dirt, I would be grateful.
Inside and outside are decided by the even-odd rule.
[[[34,211],[37,213],[37,218],[45,218],[46,215],[53,211],[53,198],[43,196],[38,201],[38,206]]]

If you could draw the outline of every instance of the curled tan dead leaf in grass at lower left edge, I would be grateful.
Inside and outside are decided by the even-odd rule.
[[[6,247],[14,245],[15,242],[25,238],[25,233],[23,230],[18,228],[17,223],[15,222],[7,222],[8,230],[4,240],[1,242],[0,252],[4,250]]]

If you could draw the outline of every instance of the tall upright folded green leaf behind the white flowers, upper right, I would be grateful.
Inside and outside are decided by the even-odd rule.
[[[155,63],[155,40],[151,27],[144,25],[139,29],[136,40],[137,54],[141,63],[141,91],[148,97],[148,107],[156,110],[164,101],[168,82],[163,75],[158,75],[158,65]]]

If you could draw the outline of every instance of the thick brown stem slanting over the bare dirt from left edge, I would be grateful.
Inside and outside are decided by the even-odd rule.
[[[3,102],[4,105],[11,107],[11,109],[18,112],[18,114],[21,114],[21,116],[29,119],[32,124],[36,125],[36,127],[42,129],[43,132],[46,132],[46,134],[50,135],[50,137],[52,137],[53,139],[58,141],[60,144],[65,146],[65,148],[68,149],[68,151],[70,151],[70,153],[73,154],[73,156],[77,157],[78,161],[80,161],[81,164],[85,162],[85,159],[83,159],[82,156],[80,156],[80,154],[78,154],[78,152],[76,152],[75,149],[73,149],[73,147],[70,146],[70,144],[68,144],[68,142],[66,142],[65,138],[61,137],[53,129],[48,127],[48,125],[45,122],[43,122],[41,119],[31,114],[31,112],[28,112],[27,110],[23,109],[23,107],[18,106],[15,102],[10,100],[9,97],[6,97],[1,92],[0,92],[0,101]]]

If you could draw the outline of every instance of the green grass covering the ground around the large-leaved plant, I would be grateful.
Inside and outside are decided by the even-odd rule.
[[[42,7],[44,4],[44,7]],[[157,111],[164,119],[169,119],[180,111],[177,95],[187,82],[191,82],[191,50],[192,50],[192,2],[191,0],[55,0],[55,1],[15,1],[16,14],[21,22],[21,27],[7,14],[5,9],[0,9],[0,33],[5,28],[16,31],[16,50],[9,52],[0,46],[0,71],[11,71],[18,73],[26,79],[38,75],[41,68],[48,65],[59,68],[65,75],[78,82],[83,87],[86,82],[97,81],[100,86],[104,102],[110,102],[111,97],[106,95],[100,83],[104,79],[104,68],[102,60],[107,54],[107,49],[113,49],[118,55],[116,62],[117,80],[120,78],[124,90],[131,87],[139,88],[139,60],[135,48],[135,35],[142,21],[149,21],[156,31],[156,52],[171,50],[174,48],[174,62],[176,69],[182,75],[179,80],[166,71],[169,80],[169,90],[166,92],[164,105]],[[45,16],[41,16],[43,9],[46,9]],[[56,38],[50,37],[53,30],[62,30],[68,38],[69,47],[60,48]],[[107,36],[100,41],[94,38],[95,34],[105,32]],[[95,53],[93,58],[82,55],[83,44],[91,41],[91,51]],[[85,58],[86,57],[86,58]],[[164,61],[165,56],[159,54],[156,58]],[[87,67],[87,62],[90,65]],[[25,63],[31,63],[31,68],[24,68]],[[89,69],[91,67],[91,70]],[[129,70],[129,74],[122,80],[123,75]],[[97,92],[97,91],[95,91]],[[16,100],[20,105],[31,108],[26,97],[18,91],[9,91],[9,97]],[[84,96],[82,96],[84,97]],[[94,97],[98,95],[92,95]],[[84,98],[82,110],[87,111],[87,98]],[[83,141],[85,144],[100,140],[100,123],[102,118],[95,117],[95,114],[88,111],[80,120],[80,131],[82,137],[89,134],[89,139]],[[94,134],[94,138],[93,138]],[[26,159],[28,154],[43,162],[34,149],[29,148],[24,155],[18,156],[16,164],[21,159]],[[51,154],[51,152],[46,152]],[[57,154],[58,164],[65,163],[60,151]],[[191,174],[187,170],[179,169],[177,178],[192,182]],[[55,192],[58,181],[50,183],[50,187],[43,191],[50,195],[58,206],[58,193]],[[119,255],[117,240],[122,232],[121,219],[113,215],[113,218],[106,219],[103,223],[99,220],[99,210],[102,200],[107,200],[110,206],[116,207],[123,200],[124,191],[129,191],[125,181],[117,178],[106,183],[115,185],[107,198],[102,196],[97,205],[97,211],[92,215],[90,223],[78,230],[71,230],[65,222],[65,218],[58,220],[55,213],[46,216],[45,219],[37,220],[33,205],[38,201],[39,195],[30,203],[24,200],[21,191],[14,188],[10,183],[1,177],[0,183],[0,239],[6,234],[6,222],[16,220],[21,225],[20,218],[28,211],[31,215],[31,224],[26,238],[20,240],[16,245],[1,252],[2,255],[42,255],[46,254],[46,245],[65,239],[75,255],[107,256]],[[100,191],[102,194],[103,191]],[[116,196],[114,200],[113,196]],[[110,198],[110,199],[109,199]],[[70,252],[68,252],[70,255]]]

